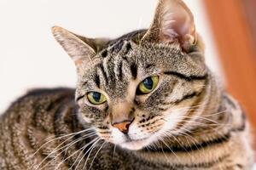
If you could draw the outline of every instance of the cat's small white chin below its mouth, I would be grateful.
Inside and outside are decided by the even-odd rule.
[[[123,144],[119,144],[122,148],[127,150],[142,150],[145,146],[149,144],[147,139],[141,140],[131,140],[129,142],[125,142]]]

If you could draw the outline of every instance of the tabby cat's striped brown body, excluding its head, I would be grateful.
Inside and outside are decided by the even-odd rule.
[[[50,140],[47,139],[49,137],[57,138],[60,134],[66,135],[82,129],[74,114],[73,98],[73,89],[44,89],[35,90],[15,102],[2,116],[0,123],[0,168],[23,170],[43,167],[50,170],[55,169],[67,158],[58,169],[65,170],[72,165],[74,168],[78,166],[78,169],[83,169],[88,155],[84,156],[83,151],[78,150],[92,138],[52,154],[50,154],[52,150],[70,136],[45,144]],[[113,144],[108,143],[103,145],[96,156],[101,143],[90,153],[86,169],[90,166],[90,169],[96,170],[250,169],[253,156],[250,146],[244,141],[249,137],[248,125],[243,113],[239,106],[225,94],[222,95],[222,105],[219,109],[226,114],[216,117],[216,121],[220,123],[218,127],[214,127],[218,130],[217,132],[208,128],[195,128],[193,131],[197,133],[191,133],[189,138],[179,137],[172,141],[172,144],[167,143],[170,144],[170,149],[162,145],[163,150],[148,148],[143,151],[130,151],[119,147],[114,148]],[[222,124],[226,119],[230,123],[228,127]],[[76,139],[79,137],[73,137],[61,146],[72,144]],[[45,144],[44,147],[39,149],[43,144]],[[186,144],[188,145],[185,146]],[[65,149],[67,152],[63,151]],[[72,156],[73,153],[75,154]],[[46,156],[49,158],[44,160]],[[71,157],[68,158],[68,156]],[[91,163],[94,158],[94,162]],[[41,162],[41,166],[37,168]]]

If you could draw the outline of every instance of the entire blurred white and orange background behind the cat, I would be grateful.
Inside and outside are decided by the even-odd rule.
[[[184,0],[206,44],[207,65],[256,130],[256,1]],[[156,0],[0,0],[0,113],[30,88],[75,87],[73,61],[51,26],[118,37],[150,25]]]

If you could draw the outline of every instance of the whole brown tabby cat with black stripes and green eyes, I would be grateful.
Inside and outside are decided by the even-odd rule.
[[[117,39],[59,26],[77,88],[34,89],[0,119],[0,169],[251,169],[241,106],[204,61],[193,14],[160,0],[151,26]]]

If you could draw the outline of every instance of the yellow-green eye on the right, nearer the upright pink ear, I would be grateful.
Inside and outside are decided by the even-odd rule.
[[[148,94],[152,92],[154,88],[157,86],[158,80],[159,80],[158,76],[145,78],[143,82],[140,82],[137,88],[137,94]]]

